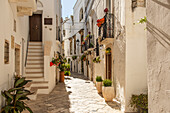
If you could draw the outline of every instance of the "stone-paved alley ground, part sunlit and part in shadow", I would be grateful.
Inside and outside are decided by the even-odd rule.
[[[38,95],[36,101],[27,103],[34,113],[121,113],[116,102],[106,103],[93,82],[76,73],[49,95]]]

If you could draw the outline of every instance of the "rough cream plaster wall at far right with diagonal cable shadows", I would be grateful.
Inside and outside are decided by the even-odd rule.
[[[170,113],[170,1],[147,1],[149,113]]]

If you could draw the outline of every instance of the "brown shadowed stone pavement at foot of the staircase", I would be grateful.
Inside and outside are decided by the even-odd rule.
[[[38,95],[35,101],[28,101],[27,104],[33,113],[70,113],[70,100],[64,83],[58,83],[49,95]]]

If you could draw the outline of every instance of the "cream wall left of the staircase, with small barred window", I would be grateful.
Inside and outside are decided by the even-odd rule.
[[[13,5],[15,7],[15,5]],[[11,48],[11,35],[15,38],[15,43],[20,45],[20,74],[24,74],[23,65],[25,64],[26,46],[29,31],[28,16],[17,17],[16,10],[11,8],[8,0],[0,1],[0,91],[9,89],[13,86],[15,72],[15,49]],[[14,28],[16,20],[16,32]],[[24,29],[23,29],[24,28]],[[4,64],[4,44],[9,41],[9,64]],[[23,45],[23,46],[22,46]],[[24,53],[22,53],[22,49]],[[24,60],[22,60],[22,58]],[[5,104],[0,96],[0,108]]]

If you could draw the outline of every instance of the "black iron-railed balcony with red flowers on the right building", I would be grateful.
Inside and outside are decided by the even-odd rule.
[[[100,44],[109,44],[114,41],[114,15],[104,16],[104,23],[99,27]]]

